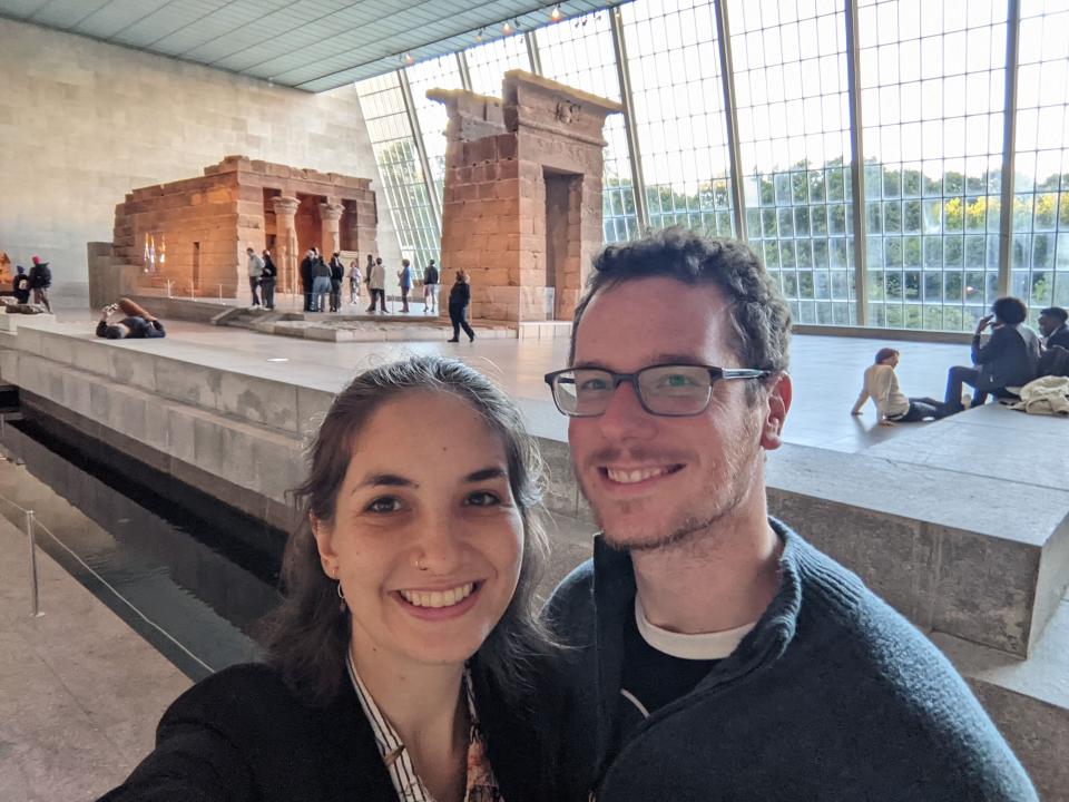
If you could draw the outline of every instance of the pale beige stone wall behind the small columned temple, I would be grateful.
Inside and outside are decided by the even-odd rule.
[[[352,87],[311,95],[6,19],[0,76],[0,251],[51,262],[60,301],[87,302],[86,243],[111,239],[126,193],[229,154],[372,178],[379,247],[401,263]]]

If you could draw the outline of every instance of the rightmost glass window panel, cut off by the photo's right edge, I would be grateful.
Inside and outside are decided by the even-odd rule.
[[[1021,0],[1010,293],[1069,307],[1069,2]]]

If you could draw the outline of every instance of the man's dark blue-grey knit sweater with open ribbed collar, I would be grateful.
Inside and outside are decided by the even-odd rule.
[[[567,653],[546,704],[559,799],[600,802],[1024,802],[1021,764],[943,655],[849,570],[772,521],[776,598],[697,687],[615,737],[630,557],[595,557],[547,607]]]

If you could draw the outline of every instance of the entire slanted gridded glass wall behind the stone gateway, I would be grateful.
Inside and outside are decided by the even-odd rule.
[[[444,164],[426,90],[500,95],[524,69],[625,106],[607,243],[742,234],[798,323],[968,331],[999,295],[1069,306],[1067,31],[1069,0],[635,0],[359,90],[418,270]]]

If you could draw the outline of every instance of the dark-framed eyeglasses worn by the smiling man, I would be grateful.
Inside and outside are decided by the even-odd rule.
[[[657,364],[635,373],[601,368],[566,368],[546,374],[553,403],[569,418],[594,418],[605,412],[616,389],[628,383],[643,409],[655,415],[685,418],[702,414],[713,398],[713,384],[733,379],[764,379],[772,371],[752,368],[712,368]]]

